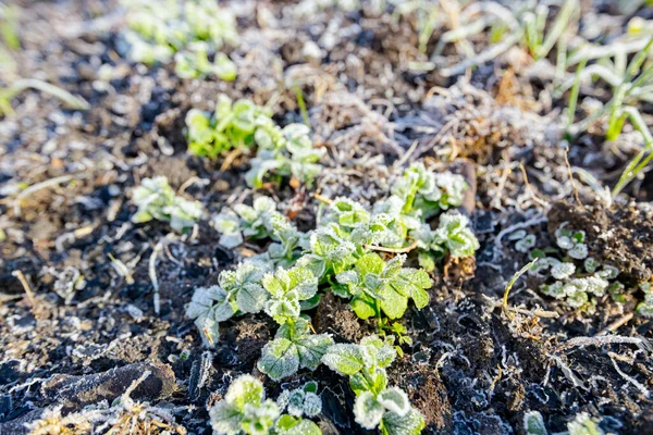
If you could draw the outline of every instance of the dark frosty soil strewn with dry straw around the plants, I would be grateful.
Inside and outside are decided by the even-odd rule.
[[[403,345],[404,356],[389,371],[391,384],[424,415],[423,433],[523,434],[528,411],[541,412],[552,433],[580,412],[601,421],[605,433],[652,433],[653,322],[638,314],[615,322],[633,313],[643,300],[639,286],[653,274],[653,207],[646,202],[653,178],[638,178],[609,204],[591,183],[569,179],[570,170],[583,171],[612,187],[637,150],[619,139],[613,146],[625,150],[615,153],[603,132],[589,130],[567,153],[566,99],[552,97],[551,83],[533,73],[523,50],[452,77],[416,70],[415,62],[428,60],[417,49],[417,17],[374,13],[362,3],[298,20],[289,1],[226,2],[241,39],[227,51],[238,69],[229,83],[182,79],[171,64],[148,67],[121,57],[124,10],[113,1],[17,2],[21,46],[11,50],[13,72],[0,79],[40,78],[83,97],[90,109],[72,110],[27,90],[11,101],[15,113],[0,119],[0,434],[27,433],[24,423],[49,408],[66,414],[111,403],[146,371],[150,376],[132,397],[170,410],[189,434],[211,433],[207,407],[242,373],[260,377],[270,397],[315,380],[323,433],[366,433],[354,422],[347,381],[325,366],[282,384],[257,371],[276,330],[263,313],[221,324],[212,349],[184,316],[194,288],[217,284],[221,271],[264,246],[227,249],[206,219],[192,235],[170,239],[156,262],[156,314],[148,261],[170,227],[131,221],[133,188],[156,175],[177,191],[183,187],[181,195],[200,201],[209,215],[249,202],[255,192],[245,173],[252,156],[223,169],[222,158],[190,156],[185,114],[212,110],[226,94],[268,104],[280,125],[301,122],[297,89],[313,142],[328,151],[326,169],[311,188],[285,181],[257,195],[275,198],[299,229],[315,227],[321,206],[311,194],[373,204],[411,162],[470,182],[461,211],[481,247],[476,258],[446,259],[436,270],[430,304],[409,308],[403,320],[412,344]],[[651,14],[640,9],[623,16],[582,3],[623,26]],[[443,32],[434,30],[428,52]],[[306,55],[308,42],[319,46],[319,59]],[[483,45],[473,44],[477,51]],[[20,196],[57,177],[65,178]],[[505,287],[530,261],[509,234],[526,229],[539,247],[553,246],[564,222],[586,232],[594,258],[619,269],[625,299],[606,296],[594,312],[582,313],[542,295],[540,283],[525,275],[509,304],[557,314],[507,316]],[[128,278],[112,258],[130,264]],[[65,284],[76,273],[84,285],[71,290]],[[375,332],[332,294],[309,315],[318,333],[337,343]],[[606,330],[642,344],[574,341]]]

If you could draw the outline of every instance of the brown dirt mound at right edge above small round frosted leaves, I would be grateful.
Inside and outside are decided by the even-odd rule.
[[[583,208],[558,201],[549,212],[549,231],[564,223],[586,232],[590,256],[619,269],[620,281],[630,285],[651,279],[653,273],[653,221],[651,212],[631,206]]]

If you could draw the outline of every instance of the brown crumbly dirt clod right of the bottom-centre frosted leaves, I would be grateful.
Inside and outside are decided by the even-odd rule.
[[[424,415],[424,433],[451,433],[452,406],[436,369],[416,368],[409,360],[396,360],[389,374],[390,384],[403,388],[410,403]]]

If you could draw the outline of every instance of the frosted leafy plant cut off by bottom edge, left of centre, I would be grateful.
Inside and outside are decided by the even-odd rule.
[[[282,409],[272,399],[266,399],[263,384],[256,377],[238,376],[220,400],[209,410],[213,432],[218,435],[321,434],[310,420],[281,414]]]

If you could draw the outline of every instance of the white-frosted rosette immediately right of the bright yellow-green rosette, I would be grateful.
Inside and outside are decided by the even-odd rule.
[[[326,150],[313,148],[310,129],[306,125],[289,124],[279,128],[268,122],[259,130],[256,135],[259,151],[251,161],[251,170],[245,175],[250,187],[262,187],[264,177],[270,173],[279,177],[294,177],[309,185],[320,174],[322,165],[317,162]]]

